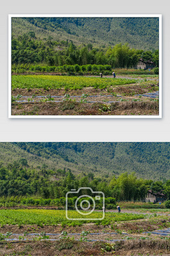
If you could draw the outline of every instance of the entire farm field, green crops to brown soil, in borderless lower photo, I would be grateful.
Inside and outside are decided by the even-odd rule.
[[[103,223],[71,223],[63,210],[1,209],[0,255],[168,256],[169,211],[139,211],[108,210]],[[153,232],[160,229],[165,235]]]

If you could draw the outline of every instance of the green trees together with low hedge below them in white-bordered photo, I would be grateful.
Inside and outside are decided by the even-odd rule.
[[[111,74],[111,68],[136,68],[140,57],[156,61],[157,66],[159,61],[159,51],[136,50],[130,48],[128,43],[119,43],[104,50],[78,47],[71,42],[58,51],[56,41],[51,41],[49,45],[46,41],[32,39],[27,34],[12,40],[11,43],[11,71],[16,73],[31,71]]]

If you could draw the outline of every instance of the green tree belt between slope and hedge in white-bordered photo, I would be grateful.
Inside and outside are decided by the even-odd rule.
[[[133,68],[139,58],[153,60],[159,65],[159,51],[131,49],[121,43],[113,48],[93,48],[92,44],[75,46],[68,41],[57,42],[49,37],[38,40],[34,32],[11,40],[12,64],[43,63],[49,66],[63,65],[111,65],[112,68]]]

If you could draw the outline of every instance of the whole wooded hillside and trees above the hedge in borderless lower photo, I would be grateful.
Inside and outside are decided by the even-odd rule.
[[[0,152],[0,197],[57,199],[80,187],[116,200],[170,196],[168,142],[1,142]]]

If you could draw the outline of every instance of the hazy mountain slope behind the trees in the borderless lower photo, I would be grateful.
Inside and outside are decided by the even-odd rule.
[[[26,158],[30,167],[69,168],[95,176],[131,173],[169,179],[169,142],[1,142],[0,162]]]

